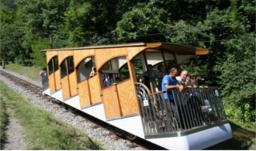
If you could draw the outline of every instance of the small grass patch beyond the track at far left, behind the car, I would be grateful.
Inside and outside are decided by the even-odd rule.
[[[5,68],[8,70],[12,70],[17,74],[21,74],[22,76],[29,77],[34,81],[41,81],[41,76],[39,73],[43,67],[24,67],[19,64],[12,63],[5,65]]]

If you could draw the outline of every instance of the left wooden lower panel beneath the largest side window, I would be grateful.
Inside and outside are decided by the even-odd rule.
[[[116,85],[109,86],[102,90],[102,98],[105,109],[106,118],[116,118],[121,116],[119,102],[116,93]]]

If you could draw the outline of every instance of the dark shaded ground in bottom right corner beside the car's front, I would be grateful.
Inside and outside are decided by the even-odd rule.
[[[243,129],[239,125],[236,125],[234,122],[230,122],[230,126],[233,132],[233,138],[225,142],[221,142],[219,144],[220,146],[234,150],[255,149],[255,132]]]

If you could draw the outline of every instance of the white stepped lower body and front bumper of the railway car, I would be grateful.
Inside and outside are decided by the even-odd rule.
[[[50,89],[43,91],[43,94],[50,95]],[[62,90],[55,92],[51,95],[53,98],[57,98],[60,101],[63,101]],[[104,110],[104,105],[94,105],[92,107],[80,108],[79,96],[67,99],[64,101],[67,105],[71,105],[74,108],[78,108],[82,112],[92,115],[95,118],[106,121],[106,115]],[[133,135],[139,136],[140,138],[144,137],[143,123],[141,122],[140,116],[133,116],[129,118],[119,118],[116,120],[108,121],[107,123],[123,129],[126,132],[130,132]],[[189,149],[205,149],[209,146],[213,146],[217,143],[223,142],[227,139],[232,138],[232,130],[230,124],[224,124],[220,126],[213,127],[211,129],[206,129],[201,132],[195,132],[188,136],[180,137],[165,137],[157,139],[147,139],[149,142],[153,142],[158,146],[162,146],[166,149],[175,149],[175,150],[189,150]]]

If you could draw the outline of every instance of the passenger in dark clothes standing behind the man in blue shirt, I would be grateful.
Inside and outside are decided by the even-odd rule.
[[[153,70],[153,66],[151,64],[148,64],[147,68],[149,70],[151,78],[152,77],[161,77],[161,75],[158,74],[158,72],[156,70]],[[147,70],[140,77],[140,82],[142,82],[143,80],[144,80],[144,84],[147,86],[147,88],[150,88],[149,78],[148,78],[148,75],[147,75]],[[154,87],[154,92],[157,92],[157,84],[156,84],[154,78],[152,78],[152,85]]]

